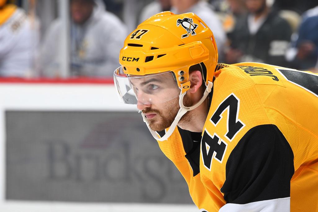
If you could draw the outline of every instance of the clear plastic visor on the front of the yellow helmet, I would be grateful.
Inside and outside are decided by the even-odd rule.
[[[122,67],[114,71],[118,97],[126,104],[158,104],[180,95],[180,88],[172,71],[149,75],[128,75]]]

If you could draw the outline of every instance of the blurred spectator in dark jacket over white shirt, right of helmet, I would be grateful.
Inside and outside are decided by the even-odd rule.
[[[229,34],[227,63],[253,61],[288,66],[285,53],[291,27],[279,14],[266,5],[266,0],[245,0],[249,12],[236,22]]]

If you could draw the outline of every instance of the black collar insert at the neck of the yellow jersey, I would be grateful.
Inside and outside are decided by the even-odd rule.
[[[200,173],[200,143],[201,139],[198,138],[198,142],[194,142],[193,138],[197,137],[197,135],[192,135],[192,132],[183,130],[178,127],[178,131],[180,133],[183,148],[186,153],[185,158],[188,159],[189,164],[193,170],[193,177]],[[195,133],[196,134],[196,133]],[[201,134],[201,133],[200,133]],[[201,137],[201,135],[200,135]]]

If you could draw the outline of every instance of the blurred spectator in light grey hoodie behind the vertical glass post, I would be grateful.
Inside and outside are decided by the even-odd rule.
[[[126,36],[125,26],[105,11],[99,0],[70,1],[70,69],[72,76],[111,77],[119,67],[118,55]],[[59,76],[59,45],[62,23],[54,21],[40,50],[43,74]]]

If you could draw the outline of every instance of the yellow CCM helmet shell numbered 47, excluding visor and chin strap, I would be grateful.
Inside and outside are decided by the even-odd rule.
[[[189,89],[189,68],[204,64],[204,80],[213,81],[218,51],[213,33],[194,13],[166,11],[142,22],[124,42],[119,58],[128,75],[172,71],[180,89]],[[182,85],[188,85],[184,86]]]

